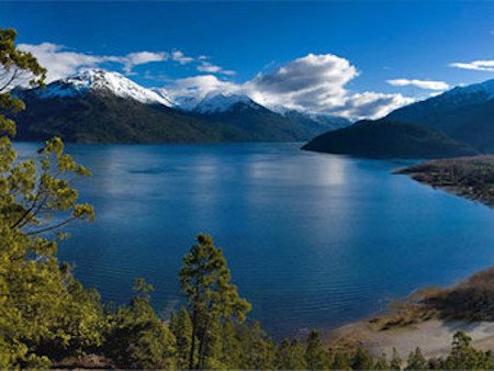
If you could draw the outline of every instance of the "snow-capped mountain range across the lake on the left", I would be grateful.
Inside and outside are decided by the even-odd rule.
[[[20,140],[58,135],[77,143],[296,142],[350,124],[330,115],[274,112],[246,95],[171,99],[162,89],[101,69],[13,93],[27,106],[15,116]]]

